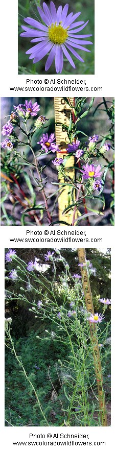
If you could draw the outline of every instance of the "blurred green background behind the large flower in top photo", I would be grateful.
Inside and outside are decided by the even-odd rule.
[[[20,33],[22,32],[21,25],[26,25],[23,18],[24,17],[32,17],[33,19],[36,19],[39,21],[39,13],[37,10],[37,6],[42,7],[42,1],[40,0],[26,0],[25,4],[23,0],[18,0],[18,74],[46,74],[44,70],[45,62],[48,58],[48,55],[44,57],[41,61],[39,61],[36,64],[33,64],[33,60],[29,60],[29,55],[26,55],[26,51],[29,50],[32,47],[31,44],[31,38],[23,38],[20,37]],[[50,1],[46,1],[48,6],[50,6]],[[66,2],[65,0],[56,0],[55,6],[56,9],[59,5],[64,5],[66,3],[69,4],[68,14],[70,12],[73,12],[76,14],[77,12],[81,12],[81,15],[78,20],[86,22],[89,20],[89,23],[87,24],[86,28],[81,31],[81,34],[93,34],[89,40],[91,40],[94,44],[94,0],[82,0],[80,2]],[[88,38],[87,38],[88,39]],[[34,45],[34,43],[33,43]],[[86,46],[87,49],[89,49],[91,52],[83,52],[82,50],[79,50],[79,55],[83,58],[84,63],[81,63],[79,60],[77,60],[74,55],[71,55],[75,65],[76,69],[74,69],[69,62],[67,62],[66,59],[64,59],[64,68],[62,70],[63,75],[67,74],[94,74],[94,45],[88,45]],[[53,62],[52,66],[48,70],[47,74],[55,74],[55,62]]]

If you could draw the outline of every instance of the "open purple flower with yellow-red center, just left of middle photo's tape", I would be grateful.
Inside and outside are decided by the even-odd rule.
[[[43,135],[40,138],[40,141],[37,141],[37,144],[41,145],[42,151],[45,151],[46,153],[48,151],[56,152],[59,151],[59,149],[54,141],[55,141],[54,133],[51,133],[50,136],[48,136],[48,133],[43,133]]]

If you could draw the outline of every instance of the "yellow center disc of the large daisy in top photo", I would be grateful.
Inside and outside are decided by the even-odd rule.
[[[51,27],[49,27],[49,38],[54,44],[63,44],[65,42],[66,38],[68,37],[67,29],[64,29],[61,26],[61,22],[59,25],[56,25],[56,23],[52,23]]]

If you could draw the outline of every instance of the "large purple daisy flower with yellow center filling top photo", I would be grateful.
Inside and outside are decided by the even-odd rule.
[[[20,36],[26,38],[34,38],[31,40],[31,42],[37,42],[37,44],[31,47],[31,49],[28,50],[26,54],[31,54],[29,58],[33,59],[33,63],[37,63],[50,52],[47,58],[47,62],[45,63],[45,70],[48,70],[50,68],[55,58],[57,74],[61,74],[62,72],[64,54],[72,67],[74,67],[75,69],[74,61],[70,56],[70,53],[68,53],[68,50],[78,60],[84,62],[84,60],[73,49],[73,47],[85,52],[90,52],[88,49],[86,49],[86,47],[83,47],[83,45],[92,44],[92,42],[84,40],[84,38],[92,35],[76,35],[87,25],[88,20],[85,23],[83,21],[75,22],[75,20],[81,13],[70,13],[67,15],[68,4],[66,4],[63,9],[62,6],[59,6],[57,11],[53,2],[50,3],[50,8],[48,8],[47,4],[44,2],[42,6],[43,10],[39,6],[37,7],[37,9],[40,15],[40,19],[44,22],[45,25],[43,25],[41,21],[38,22],[31,17],[27,17],[24,19],[25,22],[27,22],[32,27],[35,27],[35,29],[24,26],[21,27],[24,32],[21,33]]]

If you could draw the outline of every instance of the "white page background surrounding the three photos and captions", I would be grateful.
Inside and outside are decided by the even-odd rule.
[[[25,0],[24,0],[25,2]],[[60,1],[61,4],[61,1]],[[91,83],[92,86],[103,86],[103,96],[114,97],[114,2],[113,0],[95,0],[95,75],[85,76],[87,83]],[[30,77],[30,76],[29,76]],[[44,77],[40,75],[40,79]],[[55,76],[56,79],[57,76]],[[67,77],[67,76],[65,76]],[[72,79],[75,76],[72,76]],[[1,97],[10,97],[11,92],[9,86],[26,86],[26,79],[28,77],[17,75],[17,0],[5,0],[1,2]],[[36,76],[32,76],[36,78]],[[70,77],[69,77],[70,78]],[[77,77],[76,77],[77,78]],[[79,76],[80,78],[80,76]],[[81,75],[81,78],[82,75]],[[19,95],[19,93],[18,93]],[[21,94],[22,95],[22,94]],[[35,95],[35,93],[33,93]],[[83,93],[87,96],[87,92]],[[14,96],[14,93],[13,93]],[[24,92],[24,97],[27,97],[27,93]],[[47,96],[47,93],[45,93]],[[49,96],[49,93],[48,93]],[[95,94],[96,97],[99,93]],[[51,97],[51,94],[50,94]],[[87,226],[88,228],[88,226]],[[29,229],[29,227],[28,227]],[[35,230],[36,227],[31,229]],[[40,228],[39,228],[40,229]],[[42,228],[41,228],[42,229]],[[47,229],[47,228],[46,228]],[[58,227],[59,229],[59,227]],[[79,427],[69,429],[63,429],[63,427],[4,427],[4,249],[10,247],[9,236],[24,236],[26,235],[26,227],[1,227],[1,441],[2,449],[9,449],[10,451],[16,450],[16,448],[23,450],[31,449],[32,446],[12,446],[12,440],[29,440],[29,433],[54,433],[62,431],[62,433],[83,433],[89,434],[91,441],[106,441],[106,446],[95,446],[95,450],[106,450],[114,449],[114,227],[90,227],[88,228],[87,234],[90,233],[91,237],[103,237],[103,247],[111,247],[111,269],[112,269],[112,308],[111,308],[111,320],[112,320],[112,351],[111,351],[111,361],[112,361],[112,408],[111,416],[112,422],[111,427]],[[81,245],[82,247],[83,245]],[[91,246],[91,244],[90,244]],[[18,244],[18,248],[22,245]],[[26,248],[30,248],[30,244],[26,245]],[[35,247],[35,244],[33,244]],[[43,245],[43,248],[47,245]],[[64,246],[65,247],[65,246]],[[71,245],[67,246],[71,248]],[[89,244],[87,244],[89,247]],[[95,248],[95,244],[91,247]],[[97,246],[96,246],[97,247]],[[15,248],[15,247],[13,247]],[[101,246],[100,246],[101,248]],[[55,431],[55,432],[54,432]],[[35,447],[35,446],[33,446]],[[37,446],[36,446],[37,447]],[[75,446],[77,450],[81,450],[86,446]],[[75,449],[74,447],[74,449]],[[71,446],[63,447],[64,450],[71,450]],[[91,449],[91,446],[87,446],[87,450]],[[40,447],[40,450],[47,450],[47,446]],[[55,446],[56,450],[59,450],[59,446]],[[49,447],[49,451],[52,450],[52,446]]]

